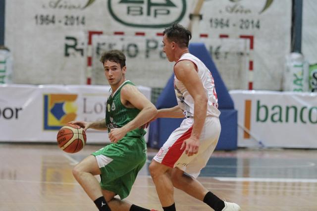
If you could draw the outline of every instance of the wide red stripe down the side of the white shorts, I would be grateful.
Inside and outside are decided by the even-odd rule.
[[[162,160],[162,164],[169,166],[171,168],[174,167],[175,162],[178,160],[178,158],[181,157],[183,152],[185,151],[185,148],[183,150],[180,150],[183,142],[190,137],[192,134],[193,126],[191,126],[181,137],[179,137],[175,143],[168,149],[168,152],[164,156]]]

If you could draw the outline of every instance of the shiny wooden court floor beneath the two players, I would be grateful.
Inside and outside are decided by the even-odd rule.
[[[72,176],[101,146],[66,154],[56,145],[0,144],[0,211],[97,211]],[[149,161],[156,150],[149,149]],[[147,163],[128,201],[162,211]],[[216,151],[199,180],[243,211],[317,211],[317,150]],[[210,211],[175,190],[178,211]]]

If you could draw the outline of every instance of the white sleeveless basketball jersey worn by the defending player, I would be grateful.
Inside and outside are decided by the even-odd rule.
[[[199,78],[202,81],[205,92],[208,96],[207,116],[219,117],[220,111],[218,110],[217,94],[214,87],[214,80],[209,69],[199,58],[190,53],[184,53],[177,62],[179,62],[180,60],[190,60],[196,65]],[[177,103],[184,111],[185,117],[193,117],[194,99],[189,94],[185,85],[176,78],[176,75],[174,76],[174,89]]]

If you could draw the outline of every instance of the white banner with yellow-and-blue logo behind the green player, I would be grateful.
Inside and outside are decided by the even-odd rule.
[[[72,120],[106,115],[109,86],[0,85],[0,142],[56,142]],[[151,88],[138,86],[151,100]],[[146,135],[146,141],[148,135]],[[106,131],[87,130],[87,143],[109,143]]]

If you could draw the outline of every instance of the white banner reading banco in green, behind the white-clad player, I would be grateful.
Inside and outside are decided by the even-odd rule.
[[[238,147],[317,148],[317,94],[232,90]]]

